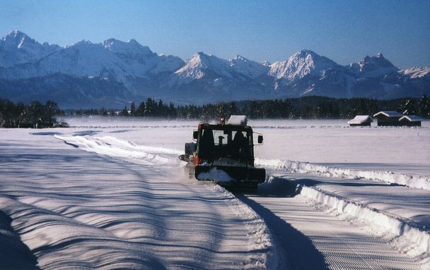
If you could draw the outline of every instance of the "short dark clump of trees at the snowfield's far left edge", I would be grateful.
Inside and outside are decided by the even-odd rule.
[[[7,99],[0,99],[0,127],[2,128],[53,128],[66,126],[59,123],[55,116],[62,115],[57,103],[47,101],[45,104],[31,102],[17,104]]]

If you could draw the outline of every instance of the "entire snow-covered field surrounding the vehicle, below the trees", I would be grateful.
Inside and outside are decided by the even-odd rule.
[[[177,158],[198,121],[66,121],[71,128],[0,130],[6,269],[300,269],[306,257],[289,247],[313,250],[313,269],[430,269],[429,122],[249,121],[265,135],[256,164],[271,177],[248,196],[197,182]],[[303,187],[294,198],[291,183]],[[286,204],[308,208],[292,218]],[[327,252],[343,238],[321,244],[313,235],[321,218],[298,222],[309,213],[327,216],[327,228],[353,223],[343,232],[380,239],[361,251],[390,255],[363,266],[368,252],[353,252],[344,264]],[[279,238],[288,230],[306,244]]]

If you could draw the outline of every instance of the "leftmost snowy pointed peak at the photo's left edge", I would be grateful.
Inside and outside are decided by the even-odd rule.
[[[0,66],[8,68],[35,62],[59,49],[58,45],[40,44],[25,33],[14,30],[0,39]]]

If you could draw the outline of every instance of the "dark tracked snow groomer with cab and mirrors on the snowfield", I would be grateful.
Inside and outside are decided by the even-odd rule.
[[[210,180],[224,187],[256,188],[266,178],[264,168],[254,166],[254,135],[246,116],[231,116],[227,123],[203,123],[193,132],[196,142],[185,144],[180,159],[194,165],[197,180]]]

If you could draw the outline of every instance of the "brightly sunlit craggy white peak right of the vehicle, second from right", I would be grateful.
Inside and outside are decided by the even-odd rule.
[[[339,65],[327,57],[303,49],[289,57],[287,61],[272,63],[269,75],[277,79],[298,80],[306,75],[323,75],[325,70],[337,67]]]

